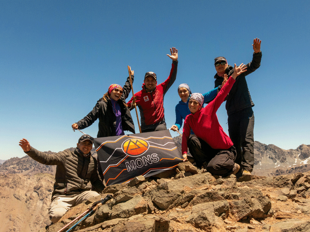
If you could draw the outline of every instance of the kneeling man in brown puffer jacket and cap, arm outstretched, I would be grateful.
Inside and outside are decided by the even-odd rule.
[[[91,156],[93,141],[94,138],[90,135],[82,135],[74,151],[67,149],[48,154],[31,147],[26,139],[20,140],[20,147],[35,161],[45,165],[57,165],[52,202],[48,212],[53,223],[59,221],[70,208],[83,200],[100,195],[90,191],[91,186],[87,185],[89,181],[100,192],[104,190],[105,186],[97,170],[97,161]]]

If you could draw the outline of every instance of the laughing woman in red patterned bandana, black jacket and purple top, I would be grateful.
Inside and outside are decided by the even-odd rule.
[[[131,91],[129,78],[134,81],[134,71],[130,72],[131,76],[127,78],[123,87],[111,84],[108,92],[97,101],[93,110],[80,121],[73,123],[72,128],[84,129],[99,118],[97,138],[124,135],[124,131],[135,133],[135,126],[125,101]]]

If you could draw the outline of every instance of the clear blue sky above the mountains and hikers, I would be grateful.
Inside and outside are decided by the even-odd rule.
[[[292,4],[1,0],[0,159],[23,157],[22,138],[40,151],[74,147],[82,133],[71,124],[92,110],[110,84],[125,83],[127,65],[138,92],[145,72],[155,72],[158,83],[168,77],[166,54],[176,47],[177,79],[164,101],[171,127],[178,85],[201,93],[214,88],[214,58],[248,63],[256,37],[262,40],[261,66],[246,77],[255,103],[254,139],[283,149],[310,144],[310,5]],[[224,104],[217,115],[228,134]],[[98,121],[83,131],[95,137]]]

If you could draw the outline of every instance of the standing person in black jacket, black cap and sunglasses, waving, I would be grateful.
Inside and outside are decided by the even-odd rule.
[[[254,72],[260,66],[262,52],[261,40],[253,41],[253,59],[246,65],[247,71],[239,75],[226,98],[226,110],[228,114],[228,133],[236,150],[236,163],[243,168],[242,175],[251,175],[254,166],[254,103],[246,83],[246,75]],[[215,87],[222,84],[224,74],[231,76],[234,69],[228,65],[224,57],[214,59],[216,69]]]

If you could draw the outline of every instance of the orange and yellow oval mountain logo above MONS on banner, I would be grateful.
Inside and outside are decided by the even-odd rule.
[[[122,144],[123,151],[129,156],[140,156],[144,154],[149,148],[147,141],[138,138],[126,140]]]

